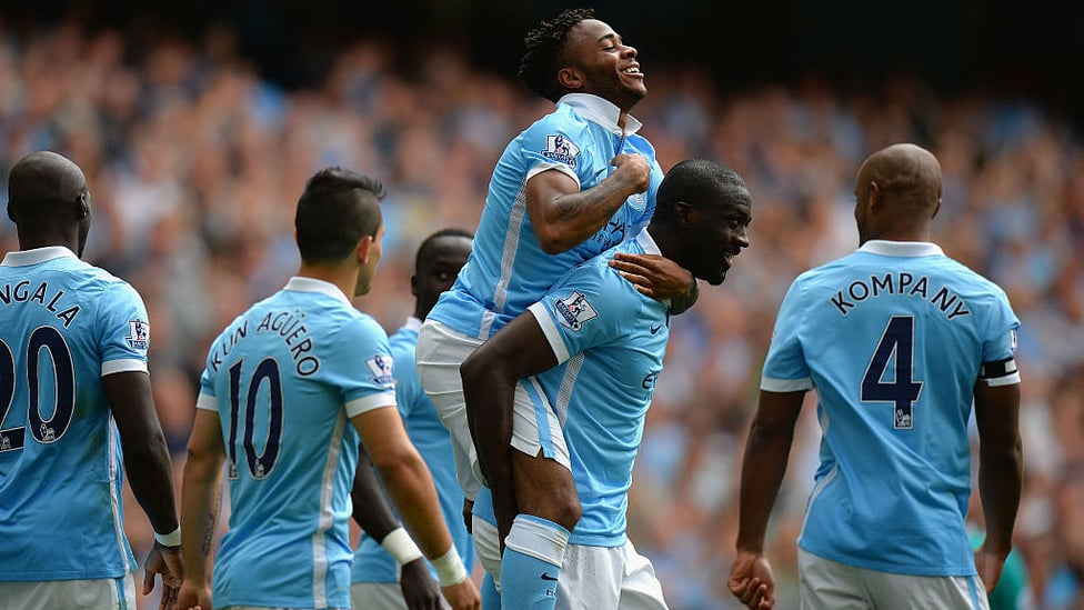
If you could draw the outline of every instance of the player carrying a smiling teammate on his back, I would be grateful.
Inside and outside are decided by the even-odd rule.
[[[733,170],[679,163],[646,231],[572,270],[463,362],[482,471],[494,497],[513,494],[519,507],[511,531],[501,529],[504,610],[666,607],[651,562],[625,536],[625,512],[670,311],[609,262],[661,254],[717,286],[749,247],[751,213]],[[476,541],[480,553],[490,543]]]

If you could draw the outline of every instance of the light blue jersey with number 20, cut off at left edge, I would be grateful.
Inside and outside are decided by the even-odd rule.
[[[101,378],[147,371],[143,301],[67,248],[40,248],[4,257],[0,317],[0,580],[122,577],[136,561]]]

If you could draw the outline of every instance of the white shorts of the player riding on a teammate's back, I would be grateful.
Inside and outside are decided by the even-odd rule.
[[[418,380],[436,408],[441,423],[451,434],[455,476],[470,500],[478,498],[482,472],[466,420],[466,401],[459,368],[483,342],[440,322],[426,320],[418,332],[414,351]],[[556,412],[532,380],[523,380],[515,387],[511,446],[529,456],[542,451],[546,458],[572,469]]]

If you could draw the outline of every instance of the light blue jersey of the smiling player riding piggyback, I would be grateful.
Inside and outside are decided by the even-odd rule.
[[[663,172],[654,148],[636,133],[640,123],[632,117],[626,119],[622,140],[618,113],[618,107],[602,98],[571,93],[509,143],[493,171],[471,256],[428,319],[488,339],[538,301],[569,269],[648,226]],[[652,168],[648,190],[630,197],[585,242],[560,254],[543,252],[526,212],[526,181],[556,170],[574,179],[581,191],[588,190],[613,172],[610,161],[618,152],[648,158]]]

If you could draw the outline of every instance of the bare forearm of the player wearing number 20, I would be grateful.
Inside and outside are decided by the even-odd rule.
[[[147,513],[158,533],[177,529],[177,501],[173,493],[173,464],[161,430],[150,438],[121,441],[124,470],[136,501]]]

